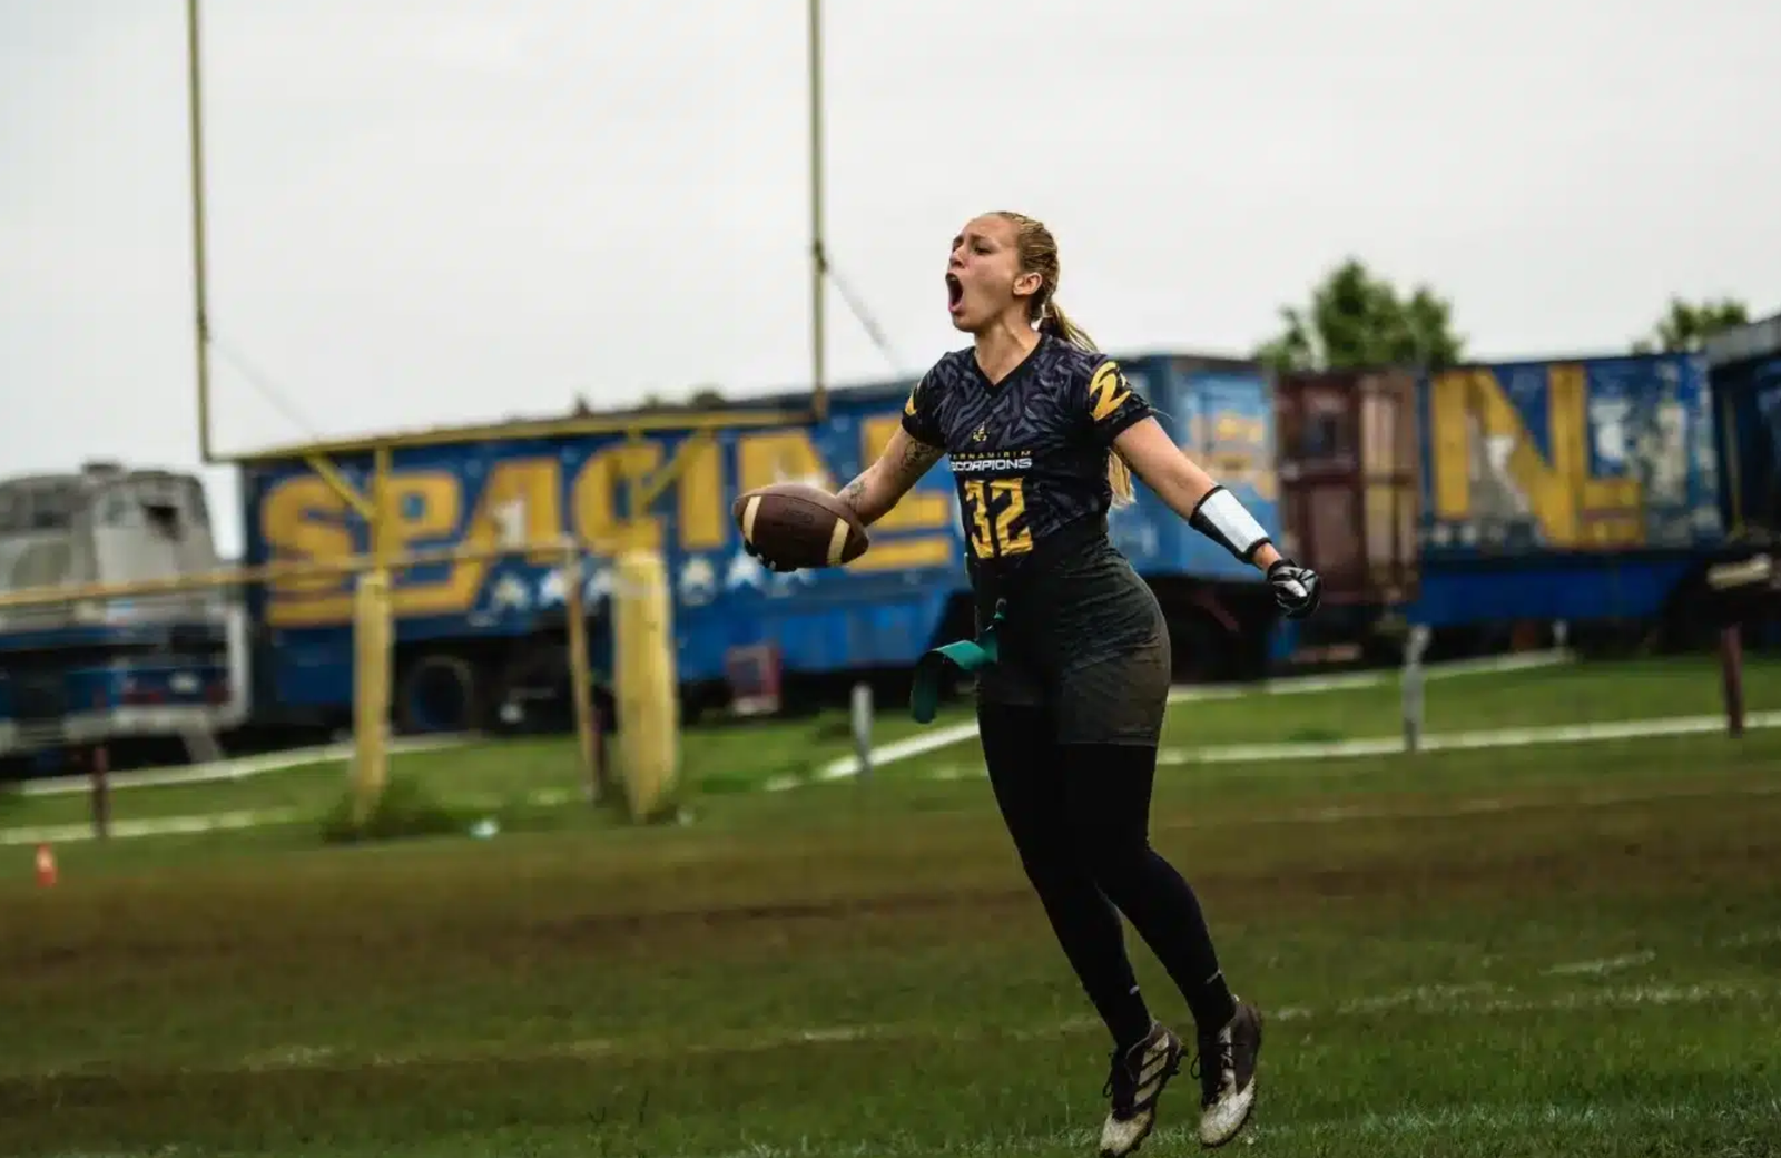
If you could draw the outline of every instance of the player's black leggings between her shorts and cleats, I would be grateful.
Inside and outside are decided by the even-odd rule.
[[[1236,1014],[1199,898],[1151,848],[1156,748],[1058,745],[1040,707],[980,704],[978,727],[996,803],[1051,928],[1088,999],[1126,1048],[1151,1030],[1118,914],[1193,1010],[1218,1030]]]

